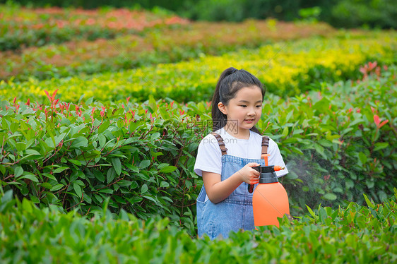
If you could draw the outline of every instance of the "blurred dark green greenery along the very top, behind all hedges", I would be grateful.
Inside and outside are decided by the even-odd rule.
[[[6,3],[7,0],[0,0]],[[101,6],[156,8],[161,7],[193,20],[242,21],[247,18],[278,20],[321,20],[335,27],[396,28],[397,6],[393,0],[13,0],[31,6],[98,8]]]

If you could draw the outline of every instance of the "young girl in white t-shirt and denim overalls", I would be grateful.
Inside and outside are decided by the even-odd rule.
[[[254,229],[252,193],[248,184],[259,182],[264,166],[262,136],[255,124],[261,119],[265,90],[251,73],[227,68],[220,75],[212,100],[213,131],[198,145],[194,172],[203,177],[197,198],[198,236],[210,239],[230,231]],[[268,142],[268,165],[285,167],[278,145]],[[288,170],[276,172],[278,176]]]

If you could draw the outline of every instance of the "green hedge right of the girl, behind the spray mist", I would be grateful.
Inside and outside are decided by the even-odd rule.
[[[286,179],[296,179],[288,193],[300,207],[362,202],[361,193],[380,203],[397,186],[396,67],[374,62],[360,71],[357,83],[322,83],[287,100],[271,97],[274,103],[263,109],[270,114],[260,128],[278,142]]]

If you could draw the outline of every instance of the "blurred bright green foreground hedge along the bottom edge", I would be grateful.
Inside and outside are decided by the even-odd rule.
[[[1,194],[2,263],[396,263],[397,189],[382,204],[321,207],[280,228],[191,239],[167,218],[103,210],[87,219]]]

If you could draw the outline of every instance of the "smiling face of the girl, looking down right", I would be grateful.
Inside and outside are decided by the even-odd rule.
[[[240,135],[247,135],[248,130],[261,119],[262,92],[257,86],[240,89],[235,98],[225,105],[218,104],[220,112],[227,115],[229,131]]]

